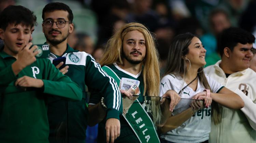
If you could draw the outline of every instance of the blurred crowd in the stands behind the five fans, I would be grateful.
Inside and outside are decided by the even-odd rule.
[[[23,5],[34,11],[38,26],[32,42],[41,44],[46,41],[42,9],[49,2],[70,6],[75,30],[69,35],[68,44],[93,55],[96,61],[108,39],[128,22],[140,22],[152,32],[162,70],[177,34],[191,32],[199,36],[207,50],[206,66],[220,59],[216,39],[222,30],[240,27],[256,36],[256,0],[0,0],[0,12],[8,5]]]

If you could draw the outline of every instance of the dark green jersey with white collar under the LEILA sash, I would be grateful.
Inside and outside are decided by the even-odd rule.
[[[107,67],[109,67],[113,72],[115,72],[116,75],[120,79],[122,79],[122,77],[124,77],[124,78],[130,78],[130,79],[135,79],[135,80],[140,81],[140,85],[139,85],[140,94],[139,95],[143,95],[144,82],[143,82],[142,71],[137,75],[133,75],[133,74],[121,69],[120,67],[118,67],[116,63],[114,63],[113,65],[109,65]],[[92,93],[92,94],[94,94],[94,93]],[[146,95],[147,95],[147,92],[146,92]],[[99,103],[100,98],[101,98],[100,94],[94,94],[93,96],[90,97],[89,105],[95,105],[95,104]],[[145,101],[143,96],[139,96],[138,100],[141,103],[142,107],[145,109],[145,111],[148,113],[148,115],[150,115],[150,117],[152,118],[151,108],[150,108],[151,101],[149,100],[149,98],[147,98]],[[134,102],[136,102],[136,101],[134,101]],[[102,122],[99,123],[98,142],[105,142],[105,139],[106,139],[105,121],[106,120],[103,120]],[[117,142],[117,143],[124,143],[124,142],[137,143],[137,142],[139,142],[139,139],[137,138],[136,134],[134,133],[134,131],[132,130],[132,128],[130,127],[130,125],[127,123],[127,121],[125,120],[125,118],[123,116],[120,117],[120,124],[121,124],[120,136],[115,140],[115,142]]]

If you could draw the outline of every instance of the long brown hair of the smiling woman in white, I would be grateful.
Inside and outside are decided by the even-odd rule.
[[[191,33],[185,33],[173,38],[169,49],[165,75],[174,74],[175,76],[180,76],[185,79],[187,66],[186,59],[183,57],[189,53],[188,46],[194,37],[196,36]],[[199,82],[203,84],[204,88],[211,90],[207,78],[205,77],[203,67],[198,69],[197,76]],[[214,101],[212,101],[212,120],[214,124],[218,124],[221,121],[221,113],[218,104]]]

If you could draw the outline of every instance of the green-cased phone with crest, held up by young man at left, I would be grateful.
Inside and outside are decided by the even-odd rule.
[[[38,51],[38,54],[35,55],[36,58],[47,58],[50,54],[49,44],[34,44],[37,45],[37,49],[34,50]],[[30,48],[32,48],[34,45],[32,45]],[[29,48],[29,49],[30,49]]]

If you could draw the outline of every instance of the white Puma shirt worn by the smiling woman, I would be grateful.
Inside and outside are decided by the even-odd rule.
[[[216,82],[214,79],[205,75],[211,88],[211,92],[217,93],[223,88],[221,84]],[[192,88],[187,86],[181,93],[181,98],[192,99],[194,95],[202,92],[205,88],[199,80],[197,80],[197,89],[194,91]],[[187,84],[184,82],[182,77],[176,77],[175,75],[166,75],[160,81],[160,95],[166,93],[167,90],[174,90],[177,93],[185,87]],[[190,100],[182,99],[179,104],[175,107],[173,115],[180,113],[181,111],[190,108]],[[175,142],[175,143],[198,143],[209,139],[209,133],[211,131],[211,107],[208,109],[204,108],[197,111],[190,119],[184,122],[181,126],[168,131],[165,134],[161,134],[160,138]]]

